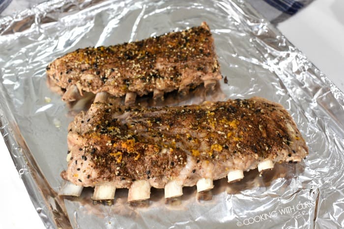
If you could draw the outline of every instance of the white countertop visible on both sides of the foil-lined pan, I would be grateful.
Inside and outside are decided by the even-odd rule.
[[[344,1],[315,0],[307,8],[278,28],[297,48],[342,91],[344,91]],[[0,228],[43,229],[44,225],[29,199],[29,194],[19,177],[0,137],[0,179],[2,188]]]

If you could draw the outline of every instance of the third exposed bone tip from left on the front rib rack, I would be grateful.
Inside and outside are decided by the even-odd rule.
[[[128,202],[144,201],[150,198],[150,184],[147,180],[135,180],[128,192]]]

